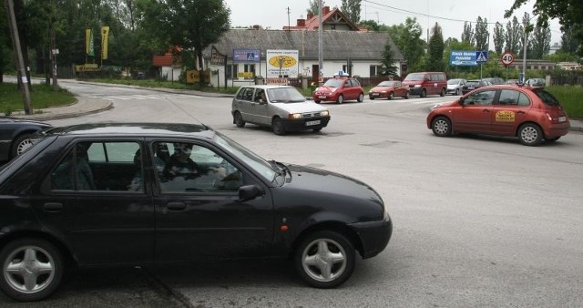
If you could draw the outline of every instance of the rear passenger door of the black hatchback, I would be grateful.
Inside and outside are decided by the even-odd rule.
[[[65,215],[80,265],[153,260],[154,207],[140,148],[137,140],[78,142],[47,177],[41,206]]]

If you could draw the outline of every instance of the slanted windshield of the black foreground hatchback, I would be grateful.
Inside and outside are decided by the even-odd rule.
[[[259,155],[251,152],[251,150],[246,149],[239,143],[229,139],[227,136],[215,131],[215,140],[219,143],[223,149],[229,151],[232,155],[243,160],[252,169],[257,171],[265,180],[275,180],[278,175],[278,170],[273,169],[271,163],[267,160],[262,159]]]

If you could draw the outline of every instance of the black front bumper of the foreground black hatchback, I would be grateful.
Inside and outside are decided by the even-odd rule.
[[[363,243],[363,259],[383,252],[393,234],[393,221],[389,215],[383,221],[356,222],[349,226],[356,231]]]

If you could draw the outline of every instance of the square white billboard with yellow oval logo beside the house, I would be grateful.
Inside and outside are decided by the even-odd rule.
[[[298,50],[267,49],[268,78],[297,78],[300,72]]]

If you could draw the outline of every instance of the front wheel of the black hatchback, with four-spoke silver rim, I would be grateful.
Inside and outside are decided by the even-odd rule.
[[[316,288],[336,287],[354,271],[354,247],[342,234],[317,231],[302,240],[293,262],[304,282]]]

